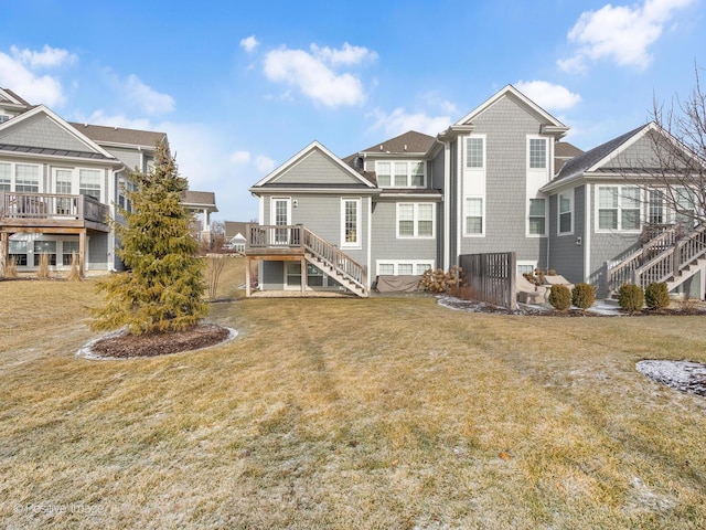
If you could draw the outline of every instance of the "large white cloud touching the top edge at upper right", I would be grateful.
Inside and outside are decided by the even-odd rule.
[[[567,72],[586,70],[588,61],[611,59],[619,66],[645,68],[652,60],[648,52],[662,34],[674,11],[694,0],[643,0],[633,7],[611,4],[585,11],[568,32],[577,46],[575,54],[557,61]]]

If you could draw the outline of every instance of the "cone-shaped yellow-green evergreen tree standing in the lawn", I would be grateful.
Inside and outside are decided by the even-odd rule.
[[[117,255],[127,271],[99,283],[106,305],[96,311],[95,329],[126,328],[142,335],[186,329],[205,317],[203,263],[181,203],[186,179],[180,177],[165,142],[157,146],[154,169],[129,176],[132,211],[119,209],[126,224],[114,222]]]

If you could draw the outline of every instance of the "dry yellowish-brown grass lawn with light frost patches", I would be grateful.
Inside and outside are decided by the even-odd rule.
[[[195,353],[90,361],[94,282],[0,282],[3,528],[706,524],[704,317],[466,314],[434,298],[243,299]]]

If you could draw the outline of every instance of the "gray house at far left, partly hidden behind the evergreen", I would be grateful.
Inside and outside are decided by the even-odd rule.
[[[149,172],[164,132],[68,123],[44,105],[0,88],[0,269],[10,259],[34,271],[78,256],[82,274],[122,268],[108,219],[129,210],[128,172]],[[186,206],[207,220],[213,193],[188,192]],[[200,232],[207,230],[204,223]]]

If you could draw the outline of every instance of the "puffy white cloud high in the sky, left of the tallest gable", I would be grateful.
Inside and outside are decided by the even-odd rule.
[[[329,107],[363,103],[365,93],[361,80],[349,72],[336,73],[330,65],[360,64],[374,60],[376,54],[347,43],[342,50],[319,49],[314,44],[311,49],[312,53],[287,47],[270,51],[265,57],[265,75]]]

